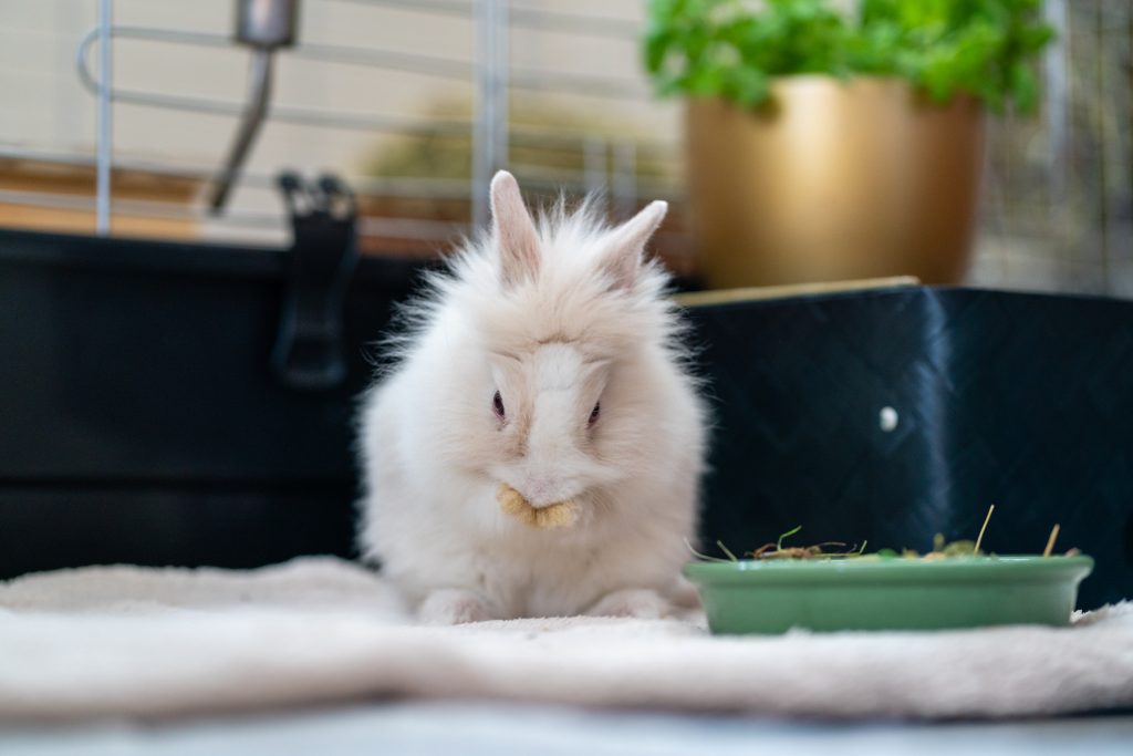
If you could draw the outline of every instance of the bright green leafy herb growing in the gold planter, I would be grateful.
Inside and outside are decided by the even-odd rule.
[[[650,0],[645,66],[663,95],[758,107],[776,76],[893,76],[937,102],[965,92],[993,110],[1038,100],[1033,63],[1054,37],[1040,0]]]

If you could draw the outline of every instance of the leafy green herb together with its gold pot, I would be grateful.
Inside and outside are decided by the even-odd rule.
[[[1053,32],[1039,0],[855,5],[650,2],[646,68],[688,97],[713,288],[963,275],[985,112],[1034,108]]]

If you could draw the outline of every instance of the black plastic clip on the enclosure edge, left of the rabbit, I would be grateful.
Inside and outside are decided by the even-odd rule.
[[[358,262],[358,207],[333,176],[317,185],[295,173],[278,179],[295,238],[272,371],[293,389],[332,389],[347,376],[342,304]]]

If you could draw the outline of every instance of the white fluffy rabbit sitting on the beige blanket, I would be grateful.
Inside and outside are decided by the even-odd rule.
[[[501,171],[491,233],[409,311],[364,400],[359,538],[421,620],[649,617],[690,598],[705,408],[668,278],[642,256],[666,209],[608,228],[560,202],[536,223]],[[535,528],[501,511],[501,484],[578,517]]]

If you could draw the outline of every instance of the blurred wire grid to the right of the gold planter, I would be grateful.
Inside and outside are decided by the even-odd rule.
[[[1037,117],[989,119],[979,284],[1133,298],[1133,2],[1047,0]]]

